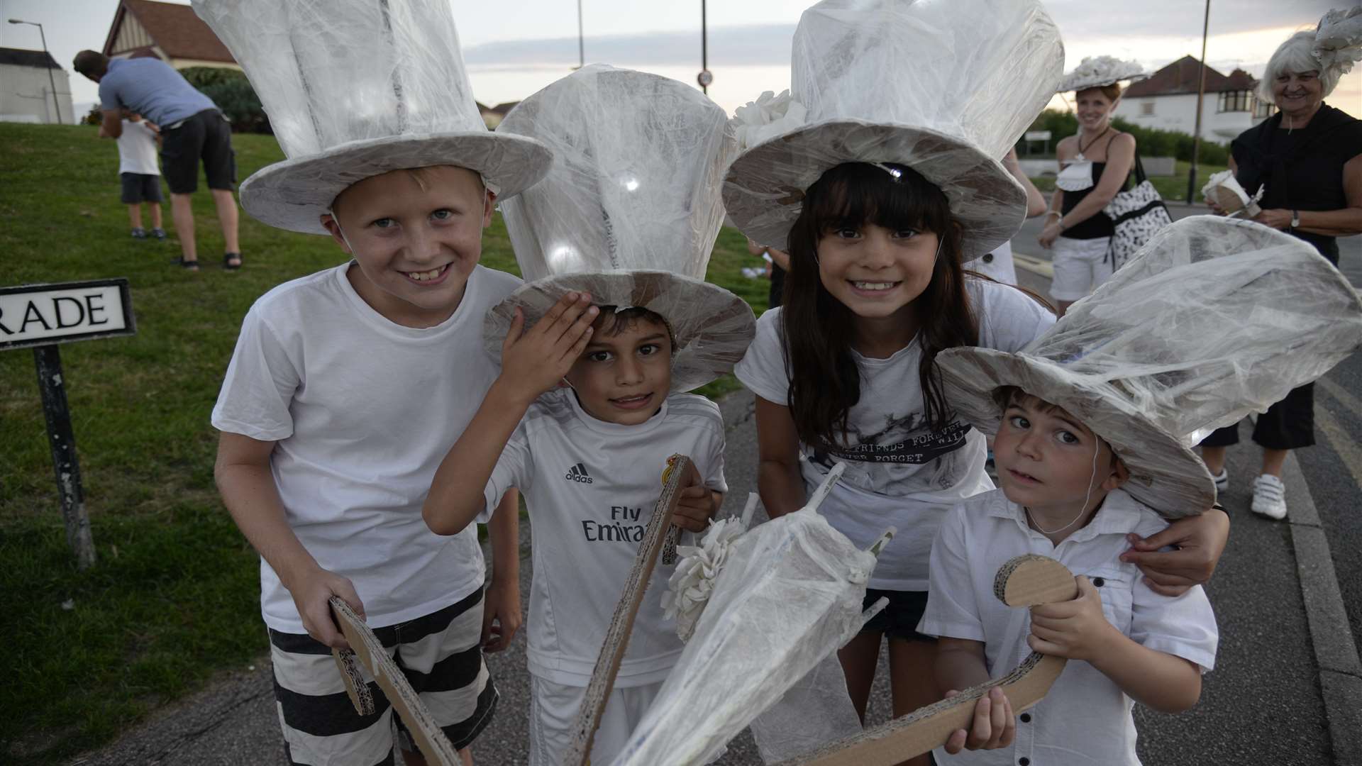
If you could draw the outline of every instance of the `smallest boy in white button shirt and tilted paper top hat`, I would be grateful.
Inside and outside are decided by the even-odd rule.
[[[1069,662],[1019,717],[1001,690],[981,698],[937,761],[1139,765],[1135,702],[1193,706],[1218,631],[1201,586],[1167,594],[1140,575],[1129,536],[1214,502],[1190,450],[1201,435],[1261,412],[1359,341],[1362,304],[1313,248],[1193,217],[1160,230],[1020,352],[941,352],[951,406],[997,433],[1001,488],[959,503],[932,545],[918,630],[940,637],[937,681],[952,694],[1009,673],[1032,650]],[[1030,615],[1004,605],[994,577],[1023,553],[1064,563],[1077,598]]]

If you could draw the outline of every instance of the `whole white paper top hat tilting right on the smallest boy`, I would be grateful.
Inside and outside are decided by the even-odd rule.
[[[1194,447],[1264,412],[1362,345],[1362,301],[1309,244],[1250,221],[1165,226],[1017,353],[937,354],[947,398],[997,431],[994,391],[1017,386],[1105,439],[1135,499],[1177,518],[1215,500]]]

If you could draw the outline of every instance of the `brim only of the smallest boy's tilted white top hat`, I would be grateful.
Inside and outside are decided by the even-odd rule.
[[[1106,440],[1130,470],[1122,489],[1165,518],[1196,515],[1215,502],[1215,481],[1201,458],[1128,403],[1115,384],[1105,391],[1077,387],[1072,373],[1049,360],[994,349],[947,349],[936,365],[947,401],[985,433],[997,433],[1002,420],[994,391],[1016,386],[1064,408]]]

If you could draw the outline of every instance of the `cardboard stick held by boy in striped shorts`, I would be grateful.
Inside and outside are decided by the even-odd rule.
[[[354,667],[354,661],[358,660],[368,668],[369,675],[387,695],[392,709],[402,717],[402,722],[407,725],[411,739],[421,748],[421,754],[426,756],[426,762],[439,766],[463,766],[463,759],[454,750],[454,743],[444,736],[430,711],[417,696],[415,690],[407,683],[407,677],[402,675],[392,657],[388,657],[379,637],[373,635],[364,619],[336,596],[331,597],[331,611],[335,613],[336,624],[340,626],[345,639],[350,642],[349,650],[332,649],[331,654],[335,656],[336,665],[340,667],[346,692],[350,695],[355,711],[361,716],[373,713],[373,696],[369,694],[369,686],[364,683],[364,676]]]

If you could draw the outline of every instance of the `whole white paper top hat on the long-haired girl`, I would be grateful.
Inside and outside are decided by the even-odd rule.
[[[783,249],[824,172],[898,162],[945,192],[964,259],[978,258],[1022,228],[1026,192],[1000,161],[1062,74],[1060,30],[1036,0],[824,0],[794,33],[802,109],[733,162],[723,202],[746,236]]]

